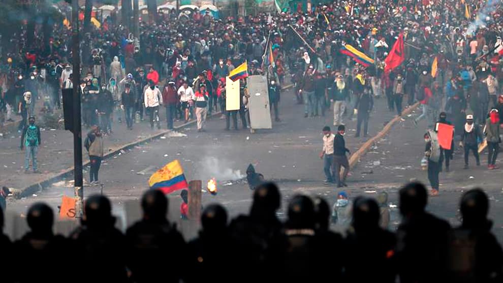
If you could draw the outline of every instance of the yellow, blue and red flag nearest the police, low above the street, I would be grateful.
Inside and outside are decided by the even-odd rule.
[[[165,194],[188,188],[187,180],[178,160],[172,161],[155,171],[148,179],[148,184],[150,188],[161,190]]]

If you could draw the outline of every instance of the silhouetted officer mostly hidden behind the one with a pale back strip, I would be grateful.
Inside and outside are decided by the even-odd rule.
[[[338,282],[342,272],[342,237],[339,233],[329,230],[331,209],[327,201],[321,197],[315,197],[315,231],[317,243],[322,247],[320,255],[320,270],[330,270],[330,279]]]

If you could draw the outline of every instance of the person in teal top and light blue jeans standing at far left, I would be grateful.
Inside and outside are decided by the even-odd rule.
[[[39,173],[37,167],[37,153],[39,151],[39,146],[42,143],[40,138],[40,128],[35,124],[35,117],[30,116],[28,118],[28,125],[24,127],[23,133],[21,135],[21,150],[26,147],[26,154],[24,156],[24,173],[29,171],[29,158],[32,157],[32,168],[34,173]]]

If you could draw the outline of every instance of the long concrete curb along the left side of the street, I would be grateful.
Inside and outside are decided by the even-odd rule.
[[[281,89],[283,89],[283,90],[284,89],[288,89],[288,88],[290,88],[292,86],[293,86],[293,84],[289,84],[289,85],[286,85],[286,86],[282,87]],[[213,115],[211,115],[211,117],[218,116],[220,114],[221,114],[221,112],[215,112]],[[192,124],[194,124],[196,122],[197,122],[197,120],[192,120],[190,122],[183,123],[183,124],[181,124],[181,125],[179,125],[177,127],[174,127],[174,130],[183,129],[183,128],[187,127],[188,125],[192,125]],[[121,150],[130,149],[130,148],[132,148],[132,147],[134,147],[136,145],[143,144],[145,142],[149,142],[149,141],[152,141],[154,139],[159,139],[162,136],[168,134],[169,132],[171,132],[171,131],[164,130],[161,133],[149,136],[147,138],[139,139],[139,140],[127,143],[127,144],[119,145],[116,148],[111,148],[107,153],[105,153],[103,155],[103,159],[102,160],[106,160],[106,159],[112,158],[114,155],[118,154]],[[89,165],[89,160],[87,158],[85,158],[84,162],[82,164],[82,167],[85,167],[87,165]],[[13,194],[13,197],[15,199],[29,197],[30,195],[32,195],[32,194],[34,194],[36,192],[40,192],[40,191],[44,190],[44,187],[47,187],[47,186],[51,185],[52,183],[56,182],[57,180],[59,180],[61,178],[64,178],[64,177],[67,177],[69,175],[72,175],[73,174],[73,170],[74,170],[73,166],[69,167],[68,169],[64,169],[62,171],[59,171],[59,173],[55,173],[54,175],[50,175],[49,177],[47,177],[47,178],[45,178],[43,180],[37,181],[37,182],[35,182],[35,183],[33,183],[33,184],[29,185],[29,186],[20,188],[19,191],[16,190],[16,192]]]

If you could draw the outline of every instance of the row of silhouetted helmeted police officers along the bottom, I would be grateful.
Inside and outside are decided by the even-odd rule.
[[[186,191],[184,191],[186,192]],[[183,195],[183,194],[182,194]],[[141,200],[143,217],[125,234],[105,196],[85,201],[81,226],[68,238],[52,232],[54,214],[44,203],[30,206],[30,231],[11,243],[0,234],[3,282],[501,282],[503,251],[491,233],[487,195],[475,188],[460,200],[461,225],[425,211],[426,188],[404,185],[401,223],[380,226],[374,199],[356,197],[349,228],[330,229],[329,204],[319,197],[293,196],[288,217],[277,218],[281,196],[274,183],[256,187],[246,215],[228,221],[219,204],[204,207],[201,231],[185,242],[168,221],[168,199],[158,190]],[[0,210],[0,227],[3,213]],[[333,219],[333,217],[332,217]],[[81,270],[79,270],[81,269]],[[77,274],[78,273],[78,274]]]

